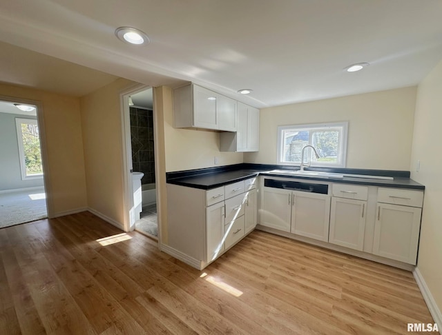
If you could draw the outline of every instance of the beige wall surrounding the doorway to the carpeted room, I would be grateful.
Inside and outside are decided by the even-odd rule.
[[[0,95],[39,101],[43,106],[39,114],[44,116],[50,214],[59,216],[86,208],[79,99],[5,84],[0,84]]]

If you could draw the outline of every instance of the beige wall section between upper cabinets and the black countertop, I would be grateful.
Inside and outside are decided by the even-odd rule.
[[[180,171],[242,163],[241,152],[220,152],[219,132],[173,128],[172,95],[164,110],[166,171]],[[214,158],[218,157],[218,165]]]

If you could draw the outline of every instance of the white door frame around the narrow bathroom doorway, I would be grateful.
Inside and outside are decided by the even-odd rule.
[[[124,231],[130,232],[135,229],[135,212],[133,208],[133,185],[132,185],[132,144],[131,144],[131,118],[130,118],[130,110],[129,110],[129,101],[128,97],[131,94],[135,94],[138,92],[142,92],[144,90],[148,90],[153,88],[149,85],[144,84],[135,84],[130,88],[120,92],[120,101],[121,101],[121,112],[122,112],[122,154],[123,154],[123,187],[124,187]],[[155,97],[154,105],[155,105]],[[156,122],[155,122],[155,108],[153,110],[153,127],[154,133],[157,132]],[[157,141],[154,141],[155,146],[155,156],[157,155]],[[157,179],[157,169],[155,169],[155,179]],[[156,187],[155,187],[156,188]],[[158,190],[156,190],[158,193]],[[157,201],[160,199],[157,197]],[[158,243],[160,245],[160,223],[158,223]]]

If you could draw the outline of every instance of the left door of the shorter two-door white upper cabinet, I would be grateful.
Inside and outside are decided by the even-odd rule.
[[[218,129],[216,104],[218,94],[193,85],[193,126]]]

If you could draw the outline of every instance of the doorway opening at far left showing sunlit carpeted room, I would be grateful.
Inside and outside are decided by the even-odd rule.
[[[0,101],[0,228],[48,217],[37,112]]]

